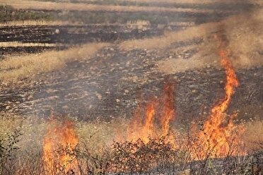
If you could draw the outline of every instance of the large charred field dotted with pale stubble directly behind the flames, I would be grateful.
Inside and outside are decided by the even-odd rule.
[[[185,59],[191,54],[194,54],[192,50],[186,52]],[[177,119],[188,122],[192,117],[209,113],[209,107],[223,96],[223,70],[204,68],[163,75],[156,71],[156,61],[165,57],[169,55],[160,56],[147,50],[122,52],[116,47],[108,47],[94,59],[74,61],[62,71],[37,76],[30,87],[25,84],[13,90],[2,90],[0,107],[4,111],[25,115],[49,116],[53,111],[85,120],[129,118],[139,104],[139,95],[151,101],[160,95],[165,80],[171,79],[176,85]],[[238,70],[237,74],[241,85],[230,105],[231,111],[247,105],[250,105],[249,110],[258,108],[262,111],[262,68]],[[262,113],[257,116],[262,116]]]

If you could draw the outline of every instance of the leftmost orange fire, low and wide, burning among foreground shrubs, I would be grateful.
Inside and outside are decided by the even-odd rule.
[[[54,121],[51,124],[43,144],[45,172],[48,175],[64,174],[76,165],[72,152],[78,144],[78,137],[71,121],[59,126]]]

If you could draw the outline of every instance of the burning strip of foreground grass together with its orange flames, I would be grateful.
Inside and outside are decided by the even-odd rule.
[[[255,155],[246,157],[245,150],[250,148],[245,147],[245,135],[235,135],[235,131],[239,132],[240,128],[247,127],[245,123],[234,123],[233,117],[226,114],[235,87],[238,86],[238,79],[226,52],[227,42],[223,40],[223,36],[220,38],[222,41],[219,55],[221,65],[226,71],[226,95],[212,107],[211,116],[204,122],[201,130],[190,129],[183,132],[171,128],[170,121],[175,118],[176,113],[173,101],[174,85],[165,83],[159,101],[150,102],[146,105],[146,110],[139,106],[143,112],[136,112],[129,122],[112,120],[112,123],[105,123],[101,127],[100,123],[79,124],[73,119],[57,121],[54,117],[50,121],[41,121],[40,123],[44,123],[42,126],[48,129],[41,139],[42,154],[37,157],[40,174],[178,173],[185,169],[190,169],[189,171],[194,171],[195,174],[213,174],[215,171],[242,174],[253,171],[253,165],[250,164]],[[159,111],[158,104],[162,104]],[[160,126],[156,126],[157,123],[160,123]],[[87,125],[90,126],[86,127]],[[98,129],[98,126],[102,129]],[[45,131],[45,128],[41,131]],[[83,128],[90,129],[88,135],[85,134],[86,129],[82,131]],[[125,128],[128,132],[122,137],[124,140],[114,142],[120,133],[125,133]],[[247,129],[250,131],[250,128]],[[263,131],[262,127],[259,129]],[[17,139],[19,135],[14,137]],[[93,140],[94,138],[98,139]],[[260,147],[261,139],[255,145]],[[101,140],[104,143],[101,143]],[[98,145],[98,142],[101,145]],[[241,147],[240,143],[244,144],[244,147]],[[215,160],[218,158],[220,159]],[[223,169],[217,165],[217,162],[222,160]],[[10,163],[17,164],[5,162],[4,166],[10,166]],[[23,167],[26,166],[28,165]],[[21,169],[21,166],[18,166],[13,171],[28,174],[30,168],[32,167]]]

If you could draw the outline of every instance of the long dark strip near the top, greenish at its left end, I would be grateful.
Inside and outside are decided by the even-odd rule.
[[[197,23],[220,20],[236,12],[194,13],[194,12],[107,12],[107,11],[34,11],[17,10],[0,6],[0,23],[12,20],[66,20],[84,24],[127,23],[129,20],[148,20],[151,24],[194,21]]]

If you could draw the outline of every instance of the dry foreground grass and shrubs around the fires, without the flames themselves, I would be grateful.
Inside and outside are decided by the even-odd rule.
[[[42,159],[42,144],[47,133],[47,128],[59,126],[63,120],[68,118],[54,120],[40,119],[37,117],[23,118],[21,116],[10,116],[8,114],[0,117],[0,139],[5,147],[11,146],[16,149],[9,149],[6,157],[1,159],[1,172],[6,174],[45,174],[44,163]],[[88,174],[107,174],[110,172],[175,172],[180,173],[182,169],[189,166],[192,161],[190,157],[189,145],[182,144],[182,136],[185,135],[188,141],[189,131],[181,129],[178,138],[175,138],[180,147],[173,148],[173,145],[166,143],[165,138],[155,138],[149,143],[137,142],[114,142],[118,134],[122,134],[127,129],[129,121],[127,119],[115,119],[110,122],[90,121],[83,122],[74,118],[74,129],[78,135],[78,146],[74,152],[67,152],[71,157],[77,160],[83,173]],[[245,135],[243,139],[247,149],[251,152],[260,150],[263,135],[263,122],[256,119],[248,122],[242,122],[245,125]],[[174,127],[173,127],[174,128]],[[175,129],[175,128],[174,128]],[[188,136],[187,136],[188,135]],[[16,140],[16,143],[7,144]],[[183,141],[185,142],[185,141]],[[6,145],[7,144],[7,145]],[[56,150],[59,152],[59,150]],[[62,150],[60,150],[61,152]],[[193,154],[194,152],[192,152]],[[204,174],[216,171],[216,162],[206,159],[201,162],[201,168],[194,171],[195,174]],[[241,173],[250,172],[252,159],[247,157],[233,158],[229,155],[225,159],[223,171]],[[228,162],[228,163],[227,163]],[[247,162],[247,163],[246,163]],[[188,164],[188,165],[187,165]],[[194,163],[192,163],[194,165]],[[235,165],[235,166],[233,166]],[[179,166],[179,167],[178,167]],[[204,166],[204,167],[203,167]],[[233,167],[228,167],[233,166]],[[194,168],[194,166],[192,167]],[[8,170],[8,171],[7,171]],[[187,170],[192,171],[192,169]],[[184,171],[187,173],[187,171]],[[182,172],[181,172],[182,173]],[[60,172],[58,174],[64,174]]]

